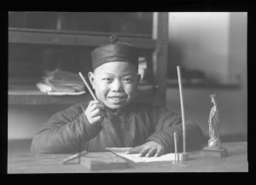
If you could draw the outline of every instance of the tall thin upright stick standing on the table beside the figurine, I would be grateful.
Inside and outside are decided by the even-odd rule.
[[[183,119],[183,153],[186,153],[186,127],[185,127],[185,112],[183,107],[183,84],[182,84],[182,76],[181,76],[179,66],[177,66],[177,78],[178,78],[179,97],[180,97],[182,119]]]

